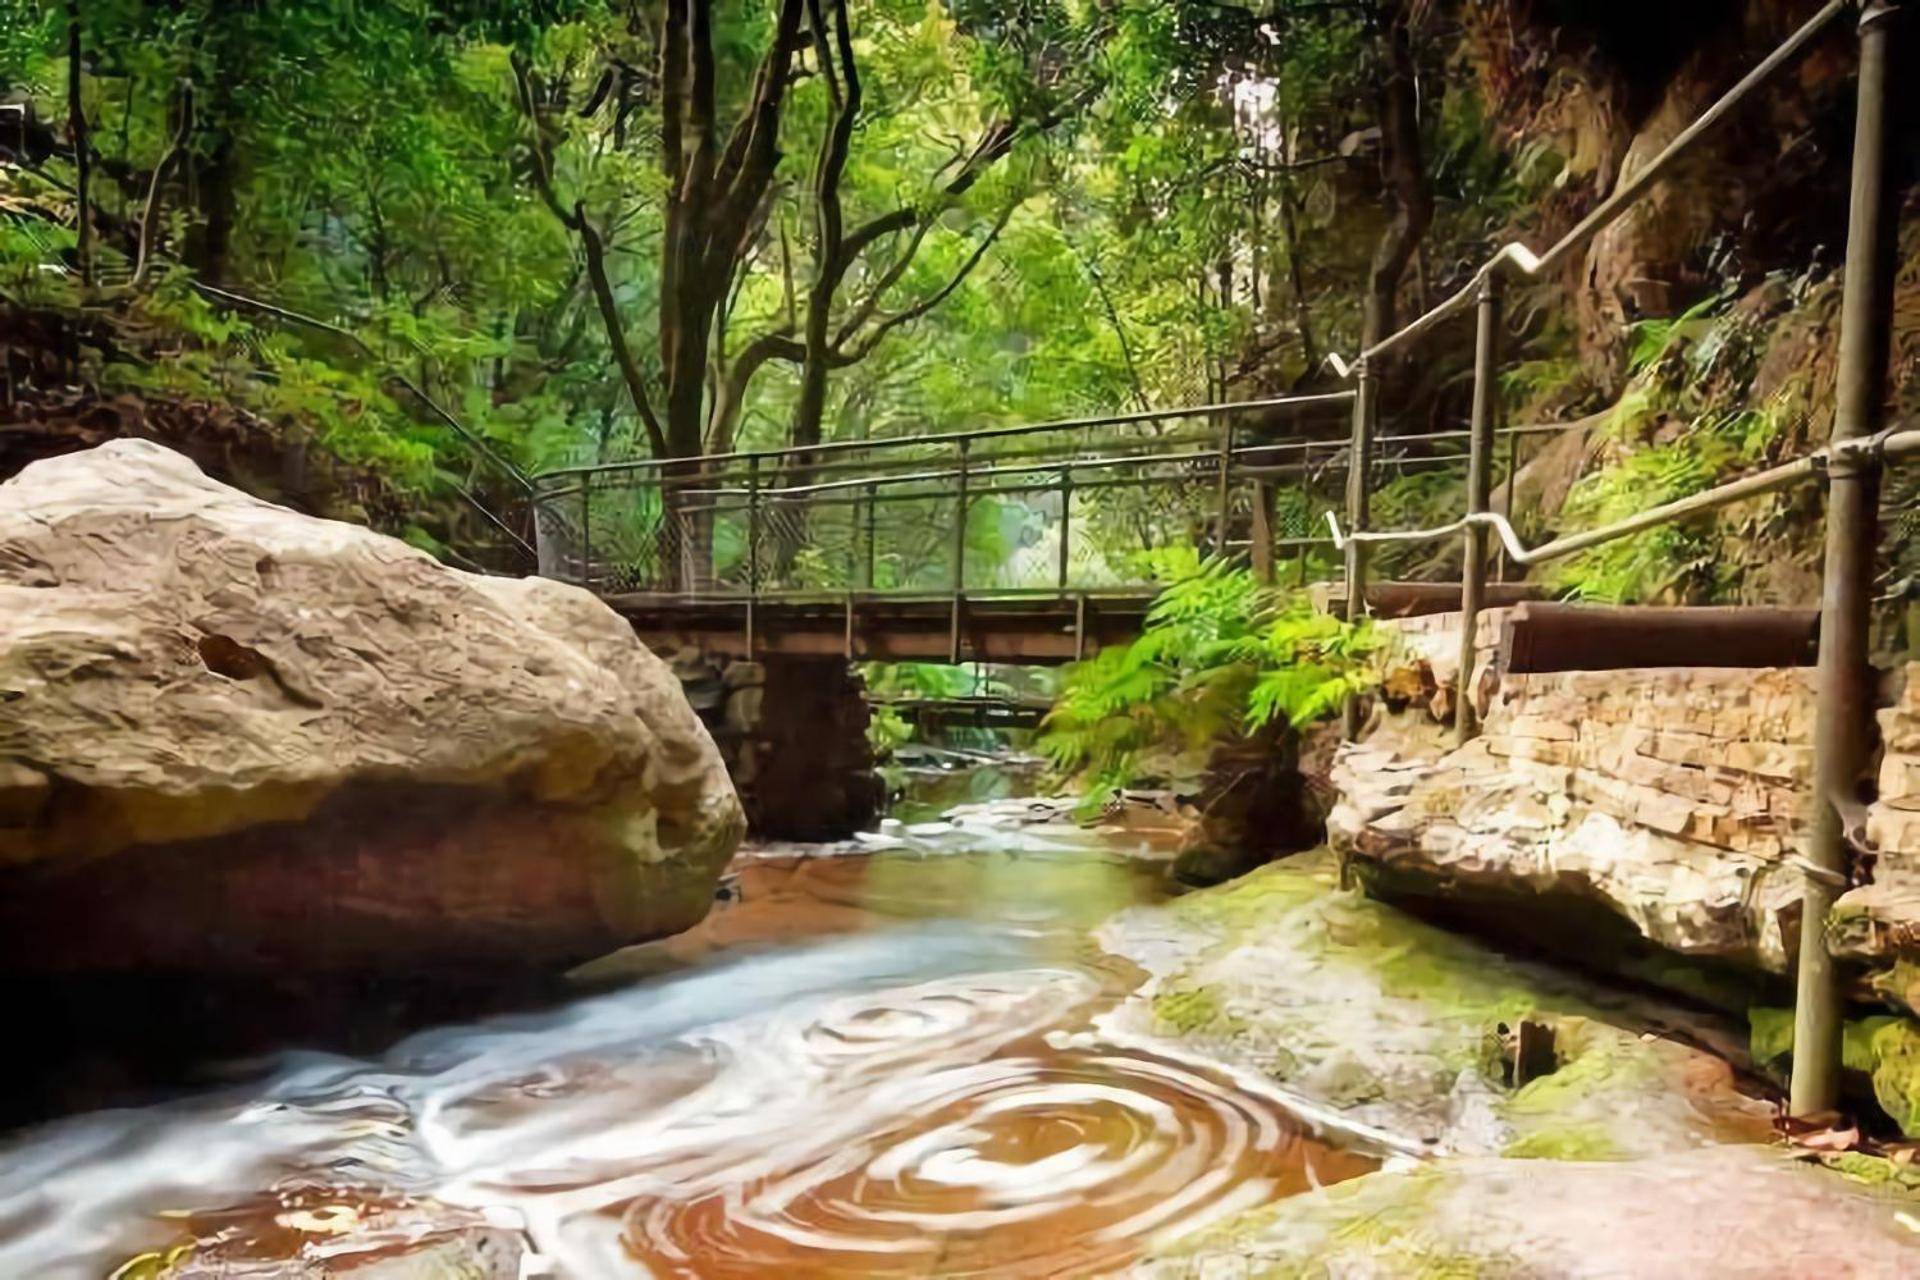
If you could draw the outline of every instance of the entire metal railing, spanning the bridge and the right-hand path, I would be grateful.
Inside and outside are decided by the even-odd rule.
[[[1853,150],[1837,413],[1826,449],[1757,476],[1667,503],[1603,530],[1528,549],[1492,510],[1498,428],[1501,290],[1509,276],[1544,278],[1630,211],[1703,136],[1768,84],[1849,10],[1859,12],[1860,77]],[[1546,253],[1513,244],[1457,294],[1338,367],[1354,378],[1342,395],[1206,405],[1171,413],[1054,422],[970,436],[856,441],[735,453],[710,459],[616,462],[534,480],[541,572],[601,591],[678,599],[803,599],[854,593],[943,593],[952,599],[954,652],[970,593],[1071,593],[1114,585],[1127,570],[1108,547],[1139,545],[1164,530],[1212,551],[1250,547],[1271,574],[1275,545],[1331,541],[1344,553],[1352,618],[1367,610],[1369,555],[1384,545],[1459,537],[1461,687],[1455,731],[1476,731],[1471,697],[1473,637],[1486,593],[1490,532],[1517,564],[1597,547],[1718,507],[1801,484],[1826,482],[1826,587],[1820,624],[1814,821],[1805,858],[1799,996],[1791,1109],[1830,1109],[1839,1080],[1841,986],[1820,923],[1847,885],[1851,833],[1859,827],[1872,743],[1868,604],[1880,476],[1889,461],[1920,451],[1920,432],[1882,424],[1891,344],[1895,209],[1885,182],[1891,42],[1897,0],[1832,0],[1715,102],[1653,161]],[[1417,464],[1463,466],[1465,512],[1438,528],[1371,528],[1373,474],[1380,453],[1379,367],[1453,317],[1476,317],[1475,395],[1465,432],[1430,434]],[[1267,418],[1346,405],[1346,441],[1271,439]],[[1517,432],[1534,428],[1517,428]],[[1517,432],[1507,432],[1509,439]],[[1465,457],[1440,438],[1463,438]],[[1402,449],[1419,438],[1398,438]],[[1509,451],[1509,474],[1511,474]],[[1344,474],[1346,526],[1332,518],[1329,478]],[[1273,497],[1300,482],[1304,503],[1332,524],[1331,539],[1275,530]],[[1077,535],[1094,528],[1098,537]],[[1050,533],[1046,533],[1050,530]],[[1244,532],[1244,539],[1240,533]],[[1027,541],[1029,535],[1033,541]],[[1046,541],[1046,537],[1052,541]],[[972,555],[977,545],[1014,555]],[[1039,551],[1035,551],[1039,549]],[[1144,581],[1133,585],[1150,585]],[[1085,599],[1085,595],[1083,595]],[[1348,708],[1348,733],[1357,708]]]

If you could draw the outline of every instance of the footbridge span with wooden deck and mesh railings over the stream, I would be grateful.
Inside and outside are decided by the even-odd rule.
[[[572,466],[534,478],[540,570],[743,656],[1071,662],[1139,631],[1150,553],[1331,564],[1352,403]]]

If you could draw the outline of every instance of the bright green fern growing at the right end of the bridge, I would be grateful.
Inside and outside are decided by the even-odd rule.
[[[1380,637],[1313,612],[1302,593],[1192,551],[1152,553],[1165,585],[1131,645],[1068,668],[1037,748],[1098,804],[1135,781],[1144,752],[1306,725],[1373,683]]]

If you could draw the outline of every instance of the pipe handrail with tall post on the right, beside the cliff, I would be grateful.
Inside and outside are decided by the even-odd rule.
[[[1572,253],[1611,226],[1644,198],[1713,127],[1745,98],[1770,83],[1799,52],[1849,10],[1859,12],[1859,106],[1853,140],[1853,201],[1847,234],[1845,294],[1837,405],[1828,447],[1784,462],[1755,476],[1718,486],[1705,493],[1667,503],[1601,530],[1561,537],[1526,549],[1505,518],[1492,512],[1490,468],[1494,459],[1494,418],[1498,413],[1498,336],[1501,284],[1509,274],[1548,276]],[[1891,351],[1893,246],[1897,209],[1887,169],[1887,107],[1891,100],[1893,40],[1901,27],[1899,0],[1832,0],[1793,36],[1747,73],[1713,104],[1692,127],[1661,152],[1645,169],[1574,226],[1542,255],[1524,246],[1507,246],[1488,261],[1461,292],[1421,315],[1396,334],[1377,342],[1342,372],[1356,380],[1352,457],[1346,532],[1329,516],[1334,539],[1346,557],[1348,616],[1367,608],[1369,553],[1392,543],[1423,543],[1461,537],[1461,662],[1455,691],[1455,733],[1471,739],[1475,700],[1475,633],[1488,572],[1488,532],[1501,537],[1505,553],[1519,564],[1538,564],[1657,526],[1686,520],[1730,503],[1803,484],[1826,482],[1826,570],[1820,608],[1820,658],[1816,676],[1818,712],[1814,723],[1814,814],[1803,858],[1805,898],[1799,940],[1799,988],[1793,1027],[1793,1088],[1789,1107],[1812,1115],[1836,1105],[1839,1096],[1839,1048],[1843,992],[1834,960],[1826,950],[1824,921],[1837,894],[1849,885],[1849,848],[1859,846],[1862,794],[1868,794],[1874,743],[1874,676],[1868,660],[1868,612],[1876,555],[1880,480],[1889,461],[1920,453],[1920,430],[1885,428],[1887,365]],[[1703,194],[1711,198],[1711,194]],[[1448,319],[1476,315],[1475,395],[1471,457],[1467,464],[1467,510],[1438,528],[1373,532],[1369,522],[1369,459],[1377,447],[1379,361],[1411,347]],[[1357,731],[1357,704],[1348,706],[1348,737]]]

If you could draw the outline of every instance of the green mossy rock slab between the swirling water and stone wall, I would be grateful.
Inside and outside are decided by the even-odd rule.
[[[1634,1002],[1332,879],[1306,856],[1116,917],[1102,942],[1152,979],[1104,1029],[1256,1071],[1413,1151],[1624,1159],[1766,1136],[1732,1069]],[[1521,1019],[1555,1029],[1557,1069],[1509,1090],[1488,1044]]]

